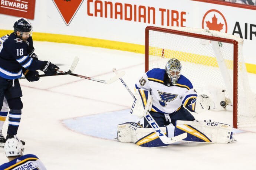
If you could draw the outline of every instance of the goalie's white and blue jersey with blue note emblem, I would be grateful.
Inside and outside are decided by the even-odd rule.
[[[191,82],[183,75],[178,79],[177,85],[168,82],[165,69],[154,68],[146,72],[135,84],[137,89],[150,91],[153,102],[151,111],[159,113],[174,113],[182,106],[194,112],[197,92]]]

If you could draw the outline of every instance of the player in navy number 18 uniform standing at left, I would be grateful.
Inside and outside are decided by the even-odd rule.
[[[16,137],[22,114],[22,90],[18,78],[24,74],[27,80],[37,81],[36,70],[53,75],[59,69],[50,61],[38,60],[33,53],[32,25],[29,20],[19,18],[13,27],[13,33],[0,38],[0,109],[4,97],[10,108],[6,139]]]

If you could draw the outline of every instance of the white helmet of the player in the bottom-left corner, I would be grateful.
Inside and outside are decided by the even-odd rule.
[[[7,157],[10,156],[22,156],[24,152],[24,146],[19,139],[10,138],[7,139],[4,145],[4,152]]]

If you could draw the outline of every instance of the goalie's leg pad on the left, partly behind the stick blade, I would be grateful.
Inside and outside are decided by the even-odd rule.
[[[166,127],[161,130],[166,134]],[[143,128],[140,123],[127,122],[117,126],[117,136],[120,142],[132,142],[144,147],[163,147],[164,144],[152,128]]]

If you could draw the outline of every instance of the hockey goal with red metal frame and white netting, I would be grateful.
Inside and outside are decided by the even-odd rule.
[[[145,72],[180,60],[181,74],[194,89],[226,90],[233,105],[233,127],[256,123],[255,94],[250,90],[243,59],[243,39],[219,31],[187,27],[145,29]]]

